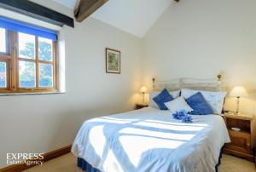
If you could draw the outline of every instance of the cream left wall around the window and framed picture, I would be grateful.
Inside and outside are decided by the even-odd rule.
[[[72,11],[50,1],[45,6]],[[63,29],[62,95],[0,96],[0,167],[7,152],[49,152],[72,144],[85,119],[133,109],[140,86],[141,40],[98,20]],[[121,74],[105,72],[105,48],[121,51]]]

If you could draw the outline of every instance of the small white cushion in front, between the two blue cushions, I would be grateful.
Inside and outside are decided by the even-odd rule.
[[[193,111],[193,109],[188,105],[186,100],[184,100],[183,96],[180,96],[175,100],[168,101],[165,103],[165,105],[172,113],[179,112],[183,109],[187,112]]]

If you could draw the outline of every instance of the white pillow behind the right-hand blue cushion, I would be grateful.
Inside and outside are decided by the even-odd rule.
[[[182,96],[185,99],[188,99],[191,95],[195,95],[196,93],[200,92],[201,95],[207,100],[209,106],[211,106],[212,111],[215,114],[220,115],[224,106],[224,98],[226,96],[226,92],[219,91],[219,92],[212,92],[212,91],[202,91],[202,90],[192,90],[192,89],[182,89]]]

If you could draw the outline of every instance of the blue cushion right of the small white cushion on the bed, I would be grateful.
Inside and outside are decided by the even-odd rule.
[[[193,111],[190,112],[191,115],[208,115],[214,113],[211,106],[208,105],[207,101],[200,92],[190,96],[186,101],[193,109]]]

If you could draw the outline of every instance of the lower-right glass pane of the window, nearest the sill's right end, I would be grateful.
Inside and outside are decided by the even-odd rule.
[[[39,87],[53,87],[53,66],[39,64]]]

